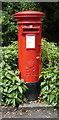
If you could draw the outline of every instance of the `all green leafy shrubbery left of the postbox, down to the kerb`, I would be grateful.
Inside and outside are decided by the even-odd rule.
[[[2,105],[16,105],[26,101],[25,91],[27,86],[20,79],[17,70],[17,43],[8,47],[2,47],[3,61],[1,61],[2,75],[0,80],[0,92],[2,93]],[[1,71],[0,71],[1,72]]]

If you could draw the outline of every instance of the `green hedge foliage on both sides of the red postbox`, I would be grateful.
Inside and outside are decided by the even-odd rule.
[[[48,104],[59,105],[59,48],[54,43],[42,40],[42,74],[41,94]],[[26,100],[24,92],[27,87],[20,80],[17,72],[18,45],[17,41],[8,47],[2,47],[3,61],[1,61],[2,76],[0,91],[2,103],[17,105]],[[0,71],[1,72],[1,71]],[[2,83],[1,83],[2,82]]]

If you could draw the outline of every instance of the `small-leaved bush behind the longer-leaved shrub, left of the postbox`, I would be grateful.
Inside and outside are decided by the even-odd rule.
[[[12,45],[2,47],[2,56],[5,64],[8,64],[12,70],[17,69],[17,59],[18,59],[18,46],[17,41],[13,42]]]

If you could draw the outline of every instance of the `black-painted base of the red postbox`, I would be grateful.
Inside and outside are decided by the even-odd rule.
[[[29,101],[38,99],[40,91],[40,82],[26,83],[28,90],[25,92],[25,95]]]

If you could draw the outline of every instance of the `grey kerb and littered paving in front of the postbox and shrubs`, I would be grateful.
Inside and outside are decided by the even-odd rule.
[[[51,119],[51,120],[58,120],[57,109],[53,108],[51,105],[30,102],[20,104],[18,108],[13,107],[0,107],[0,118],[2,120],[7,120],[7,118],[14,118],[14,119],[22,119],[31,120],[37,119]]]

